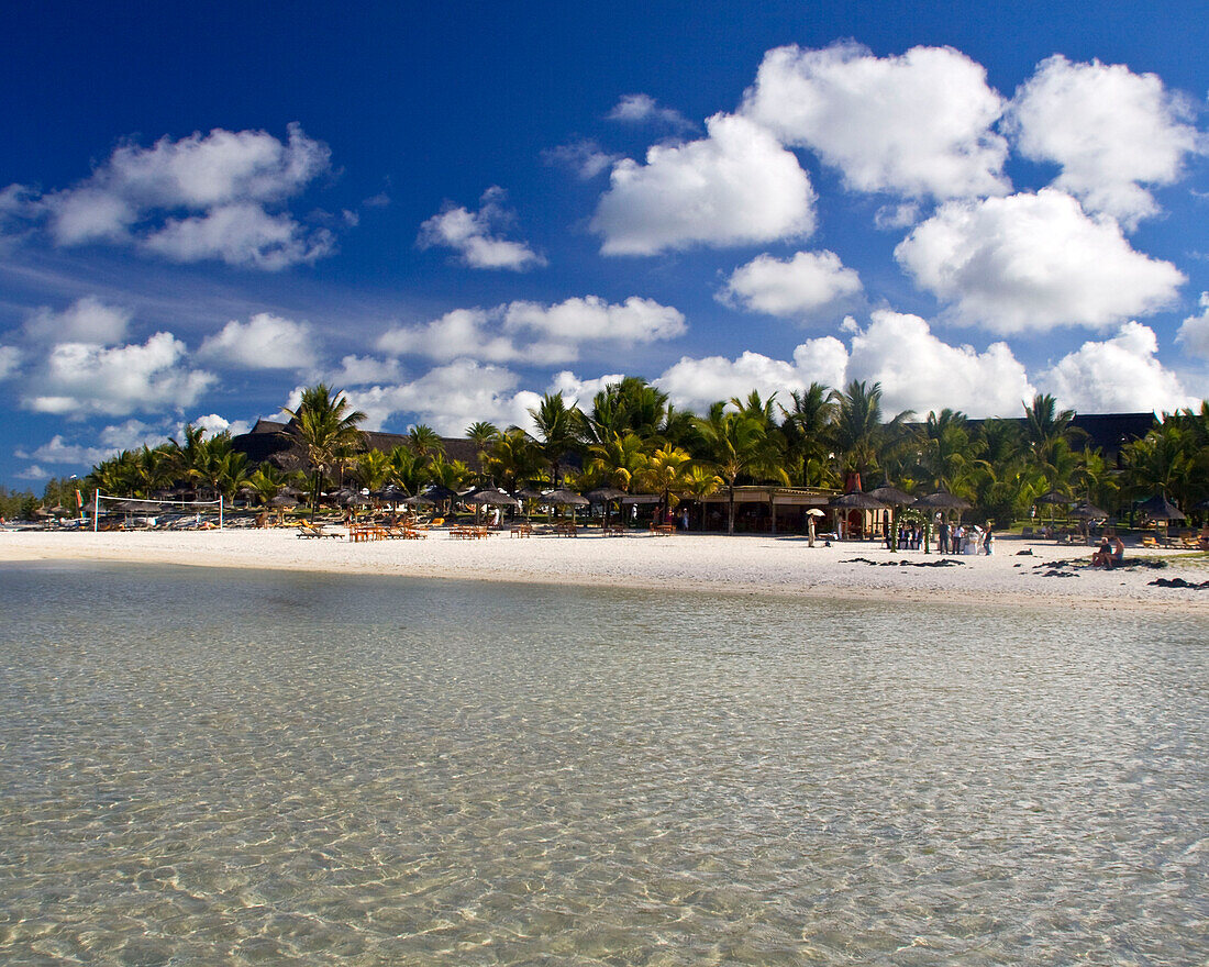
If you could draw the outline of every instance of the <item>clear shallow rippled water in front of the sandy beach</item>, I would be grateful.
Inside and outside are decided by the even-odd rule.
[[[1209,618],[0,567],[0,961],[1203,965]]]

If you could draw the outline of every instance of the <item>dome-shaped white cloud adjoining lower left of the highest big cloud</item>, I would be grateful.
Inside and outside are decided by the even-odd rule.
[[[798,160],[747,118],[715,115],[708,138],[655,145],[613,167],[591,220],[606,255],[804,237],[815,192]]]

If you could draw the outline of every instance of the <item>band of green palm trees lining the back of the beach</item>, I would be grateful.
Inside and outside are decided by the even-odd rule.
[[[432,428],[417,424],[391,450],[368,445],[365,415],[343,393],[319,384],[302,392],[283,432],[291,461],[249,467],[229,433],[185,427],[181,439],[128,450],[97,464],[85,480],[52,480],[41,502],[0,490],[5,516],[39,506],[74,509],[75,491],[152,497],[187,491],[270,504],[296,492],[312,506],[341,488],[415,494],[496,486],[569,486],[588,492],[684,498],[725,496],[725,528],[735,528],[744,485],[841,490],[858,477],[867,490],[890,482],[910,493],[948,491],[974,514],[1001,523],[1026,517],[1039,499],[1086,502],[1128,511],[1156,493],[1193,511],[1209,502],[1209,401],[1164,413],[1116,459],[1093,447],[1075,413],[1049,395],[1025,403],[1016,419],[971,421],[956,410],[883,412],[878,383],[851,382],[717,401],[704,415],[673,407],[665,393],[626,377],[580,406],[548,394],[530,411],[531,428],[476,422],[465,430],[474,457],[453,459]],[[400,439],[400,438],[397,438]]]

